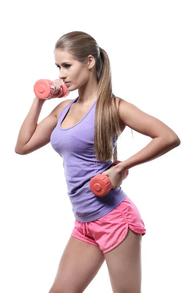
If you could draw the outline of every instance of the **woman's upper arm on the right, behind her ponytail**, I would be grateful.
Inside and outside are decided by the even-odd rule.
[[[137,132],[149,136],[151,138],[163,136],[168,140],[179,140],[176,133],[162,121],[149,115],[135,105],[121,101],[119,106],[119,115],[122,122]]]

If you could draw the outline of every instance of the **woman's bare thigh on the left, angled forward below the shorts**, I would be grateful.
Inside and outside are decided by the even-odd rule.
[[[98,246],[70,237],[49,293],[82,293],[105,258]]]

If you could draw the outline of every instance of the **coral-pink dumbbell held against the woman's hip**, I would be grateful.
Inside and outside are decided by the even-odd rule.
[[[113,167],[120,162],[121,161],[115,161],[110,165],[110,167]],[[128,174],[129,170],[125,172],[124,179],[127,178]],[[90,180],[89,187],[91,191],[97,196],[104,196],[112,189],[112,183],[108,176],[106,176],[105,174],[98,174]]]

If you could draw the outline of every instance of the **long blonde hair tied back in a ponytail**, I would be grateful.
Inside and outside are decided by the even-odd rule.
[[[99,161],[117,161],[116,138],[121,134],[119,105],[121,98],[112,92],[111,66],[108,54],[99,50],[96,40],[87,33],[73,31],[59,38],[55,50],[61,49],[86,64],[89,55],[96,60],[98,92],[95,113],[94,152]],[[114,103],[113,103],[114,102]],[[114,154],[113,148],[116,143]]]

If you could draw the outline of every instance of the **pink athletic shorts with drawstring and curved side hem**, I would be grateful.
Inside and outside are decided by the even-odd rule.
[[[126,237],[128,228],[145,235],[144,222],[136,205],[127,196],[117,208],[91,222],[75,220],[72,236],[99,246],[103,253],[117,247]]]

